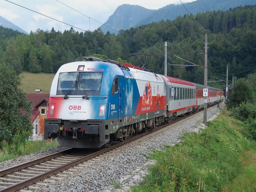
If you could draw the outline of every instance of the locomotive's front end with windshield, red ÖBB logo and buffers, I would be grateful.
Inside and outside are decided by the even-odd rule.
[[[116,76],[124,74],[111,63],[77,61],[62,65],[52,81],[44,139],[57,138],[60,146],[73,148],[107,144],[114,131],[109,129],[113,124],[108,120],[109,110],[118,106]]]

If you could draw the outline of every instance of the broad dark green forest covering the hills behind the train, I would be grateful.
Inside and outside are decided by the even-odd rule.
[[[120,30],[118,35],[104,34],[100,28],[85,32],[73,28],[64,32],[38,29],[25,35],[0,26],[0,65],[4,63],[17,73],[22,70],[54,73],[64,63],[100,54],[140,66],[128,54],[146,52],[151,54],[147,58],[148,70],[163,74],[167,41],[167,75],[203,84],[203,68],[169,64],[189,65],[184,61],[188,60],[204,66],[204,54],[199,53],[204,53],[205,30],[209,43],[208,80],[213,80],[212,76],[226,79],[227,65],[230,81],[232,76],[241,78],[256,72],[256,5],[179,16],[173,21]],[[220,83],[209,85],[220,86]]]

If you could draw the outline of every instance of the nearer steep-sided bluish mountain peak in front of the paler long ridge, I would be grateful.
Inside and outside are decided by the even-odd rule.
[[[144,17],[155,12],[156,10],[146,9],[139,5],[123,4],[117,7],[116,11],[100,28],[104,33],[117,33],[120,29],[129,29],[134,24],[140,22]],[[108,28],[111,27],[111,28]],[[115,29],[115,30],[113,30]]]

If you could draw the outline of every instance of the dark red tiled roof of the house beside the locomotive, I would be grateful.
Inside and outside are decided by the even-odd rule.
[[[50,94],[44,94],[44,93],[28,93],[26,94],[29,101],[32,101],[32,107],[31,107],[31,123],[34,122],[36,117],[39,114],[38,107],[39,105],[45,100],[46,102],[49,102]]]

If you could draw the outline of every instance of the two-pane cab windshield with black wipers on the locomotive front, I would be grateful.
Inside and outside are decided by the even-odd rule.
[[[99,72],[60,73],[57,95],[100,95],[102,75]]]

